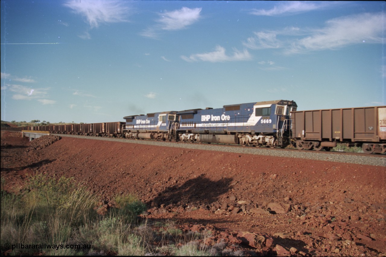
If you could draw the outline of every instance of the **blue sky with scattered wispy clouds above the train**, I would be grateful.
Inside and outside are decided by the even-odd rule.
[[[385,2],[2,0],[1,119],[385,103]]]

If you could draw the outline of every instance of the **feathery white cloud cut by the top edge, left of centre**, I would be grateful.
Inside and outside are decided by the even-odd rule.
[[[84,16],[90,27],[98,27],[101,23],[124,22],[129,14],[129,1],[105,0],[69,0],[64,5],[74,13]]]

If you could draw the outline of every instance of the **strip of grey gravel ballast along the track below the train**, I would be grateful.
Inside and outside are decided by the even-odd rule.
[[[59,134],[58,134],[59,135]],[[282,149],[270,149],[270,148],[256,148],[256,147],[245,147],[245,146],[223,146],[223,145],[212,145],[206,143],[176,143],[168,141],[151,141],[151,140],[130,140],[126,138],[107,138],[107,137],[95,137],[95,136],[76,136],[60,134],[63,137],[83,138],[91,140],[107,140],[107,141],[118,141],[123,143],[134,143],[142,145],[155,145],[155,146],[166,146],[186,149],[197,149],[197,150],[208,150],[208,151],[223,151],[230,153],[244,153],[254,155],[267,155],[274,157],[285,157],[285,158],[300,158],[308,160],[322,160],[327,162],[342,162],[342,163],[354,163],[361,165],[373,165],[373,166],[384,166],[386,167],[386,158],[379,156],[363,156],[363,155],[346,155],[341,153],[330,153],[326,151],[315,152],[315,151],[299,151],[296,149],[282,150]]]

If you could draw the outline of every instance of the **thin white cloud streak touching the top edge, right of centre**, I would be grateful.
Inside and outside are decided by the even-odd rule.
[[[276,16],[276,15],[288,15],[288,14],[300,14],[302,12],[309,12],[313,10],[325,9],[333,5],[333,2],[311,2],[311,1],[283,1],[276,2],[277,5],[269,10],[264,9],[252,9],[250,14],[264,15],[264,16]]]

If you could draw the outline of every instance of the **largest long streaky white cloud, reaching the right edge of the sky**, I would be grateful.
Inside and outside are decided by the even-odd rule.
[[[386,19],[382,13],[364,13],[328,20],[325,27],[254,32],[244,46],[250,49],[283,49],[284,53],[306,53],[338,49],[351,44],[382,43]]]

